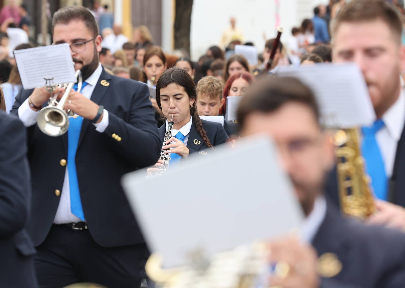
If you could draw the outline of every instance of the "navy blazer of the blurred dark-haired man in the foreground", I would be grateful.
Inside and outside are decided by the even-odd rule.
[[[344,218],[328,203],[326,216],[313,239],[318,255],[332,252],[342,270],[321,280],[321,287],[403,288],[405,234]]]

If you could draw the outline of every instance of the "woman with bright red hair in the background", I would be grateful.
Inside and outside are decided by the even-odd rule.
[[[220,115],[225,115],[226,97],[228,96],[243,96],[250,83],[254,81],[252,74],[243,71],[229,77],[224,87],[224,105],[220,109]]]

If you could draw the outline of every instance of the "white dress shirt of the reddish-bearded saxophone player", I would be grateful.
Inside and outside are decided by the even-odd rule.
[[[375,139],[384,160],[386,175],[391,178],[394,170],[396,147],[405,123],[405,96],[403,91],[395,103],[384,113],[382,120],[385,125],[375,134]]]

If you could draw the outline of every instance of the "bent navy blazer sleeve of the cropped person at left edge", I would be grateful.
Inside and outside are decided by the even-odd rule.
[[[21,230],[28,217],[30,174],[26,134],[15,116],[0,114],[0,238]]]

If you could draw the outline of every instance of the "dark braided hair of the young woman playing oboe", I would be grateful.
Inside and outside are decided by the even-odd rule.
[[[200,116],[198,115],[196,107],[197,102],[196,84],[194,83],[191,76],[184,69],[177,67],[169,68],[163,72],[162,76],[159,77],[158,82],[156,83],[156,102],[158,106],[159,107],[161,106],[160,88],[167,87],[167,85],[171,83],[176,83],[177,85],[184,87],[188,97],[190,99],[194,99],[194,105],[190,107],[190,115],[194,121],[198,134],[200,134],[201,136],[201,139],[204,140],[205,144],[208,147],[213,148],[211,142],[208,139],[207,133],[204,130],[203,122],[201,121]]]

